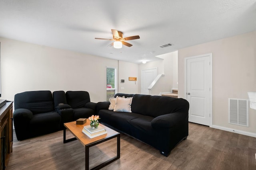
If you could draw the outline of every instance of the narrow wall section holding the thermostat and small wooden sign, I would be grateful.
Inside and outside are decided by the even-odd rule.
[[[138,64],[119,61],[119,93],[138,94],[139,93],[139,68]],[[137,81],[129,81],[129,77],[137,77]],[[121,83],[121,79],[124,83]]]

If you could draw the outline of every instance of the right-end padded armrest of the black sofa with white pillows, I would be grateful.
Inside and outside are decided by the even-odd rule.
[[[188,113],[169,113],[165,115],[160,115],[158,117],[155,117],[151,121],[151,125],[153,128],[172,128],[175,127],[182,122],[187,121],[188,122]]]

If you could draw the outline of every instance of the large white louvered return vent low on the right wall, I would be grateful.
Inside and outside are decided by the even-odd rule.
[[[249,126],[248,100],[228,99],[228,123]]]

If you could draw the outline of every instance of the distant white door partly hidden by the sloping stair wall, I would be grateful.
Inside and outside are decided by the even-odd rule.
[[[157,76],[157,68],[141,71],[141,94],[149,94],[148,86]]]

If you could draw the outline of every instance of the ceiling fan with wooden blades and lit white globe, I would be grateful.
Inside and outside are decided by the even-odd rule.
[[[112,31],[112,34],[113,34],[113,39],[106,39],[106,38],[95,38],[95,39],[103,39],[103,40],[114,41],[110,45],[111,46],[114,45],[114,48],[120,49],[120,48],[122,48],[122,44],[126,45],[127,47],[132,47],[132,44],[127,43],[125,41],[140,38],[139,35],[134,35],[134,36],[123,38],[123,33],[121,31],[117,31],[116,29],[111,29],[111,31]]]

